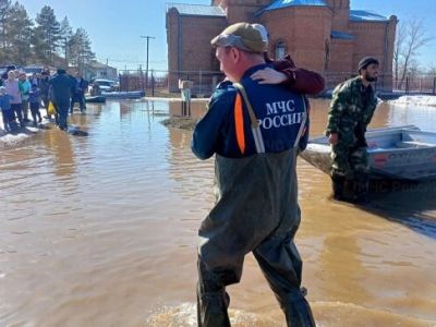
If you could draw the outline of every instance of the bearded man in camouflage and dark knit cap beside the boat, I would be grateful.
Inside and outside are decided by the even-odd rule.
[[[339,201],[365,201],[368,192],[365,132],[377,106],[371,86],[378,76],[377,59],[363,58],[358,71],[359,76],[335,88],[328,112],[326,135],[331,144],[331,181],[334,198]]]

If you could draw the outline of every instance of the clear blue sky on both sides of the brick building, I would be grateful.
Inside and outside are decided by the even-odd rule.
[[[58,20],[65,15],[73,28],[84,27],[97,59],[119,69],[145,66],[146,40],[149,40],[149,69],[167,69],[165,13],[167,3],[210,4],[210,0],[19,0],[35,20],[44,5],[55,10]],[[419,58],[422,66],[436,66],[436,0],[351,0],[352,9],[372,10],[401,21],[422,19],[435,40]]]

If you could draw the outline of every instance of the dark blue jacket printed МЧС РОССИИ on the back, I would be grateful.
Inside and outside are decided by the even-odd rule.
[[[302,95],[290,92],[283,85],[259,85],[250,76],[267,64],[251,68],[241,80],[257,120],[266,153],[281,153],[299,146],[298,135],[306,120],[305,101]],[[234,126],[234,102],[237,88],[221,83],[209,101],[205,117],[197,123],[192,142],[193,153],[201,159],[214,154],[228,158],[249,157],[256,154],[250,116],[244,105],[245,152],[241,153]]]

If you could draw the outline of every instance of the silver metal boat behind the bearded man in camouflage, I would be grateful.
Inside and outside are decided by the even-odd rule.
[[[436,179],[436,133],[404,125],[370,130],[365,136],[371,179]],[[329,173],[330,145],[326,136],[311,140],[301,157]]]

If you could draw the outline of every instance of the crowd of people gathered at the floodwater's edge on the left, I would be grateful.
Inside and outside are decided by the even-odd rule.
[[[80,73],[73,77],[65,70],[58,69],[50,76],[49,70],[27,77],[25,72],[9,66],[0,78],[0,108],[4,131],[14,132],[31,123],[37,126],[43,121],[40,107],[48,109],[51,102],[56,108],[55,121],[61,130],[68,128],[68,113],[73,113],[78,102],[81,112],[86,110],[85,93],[88,82]],[[47,113],[51,120],[51,114]]]

